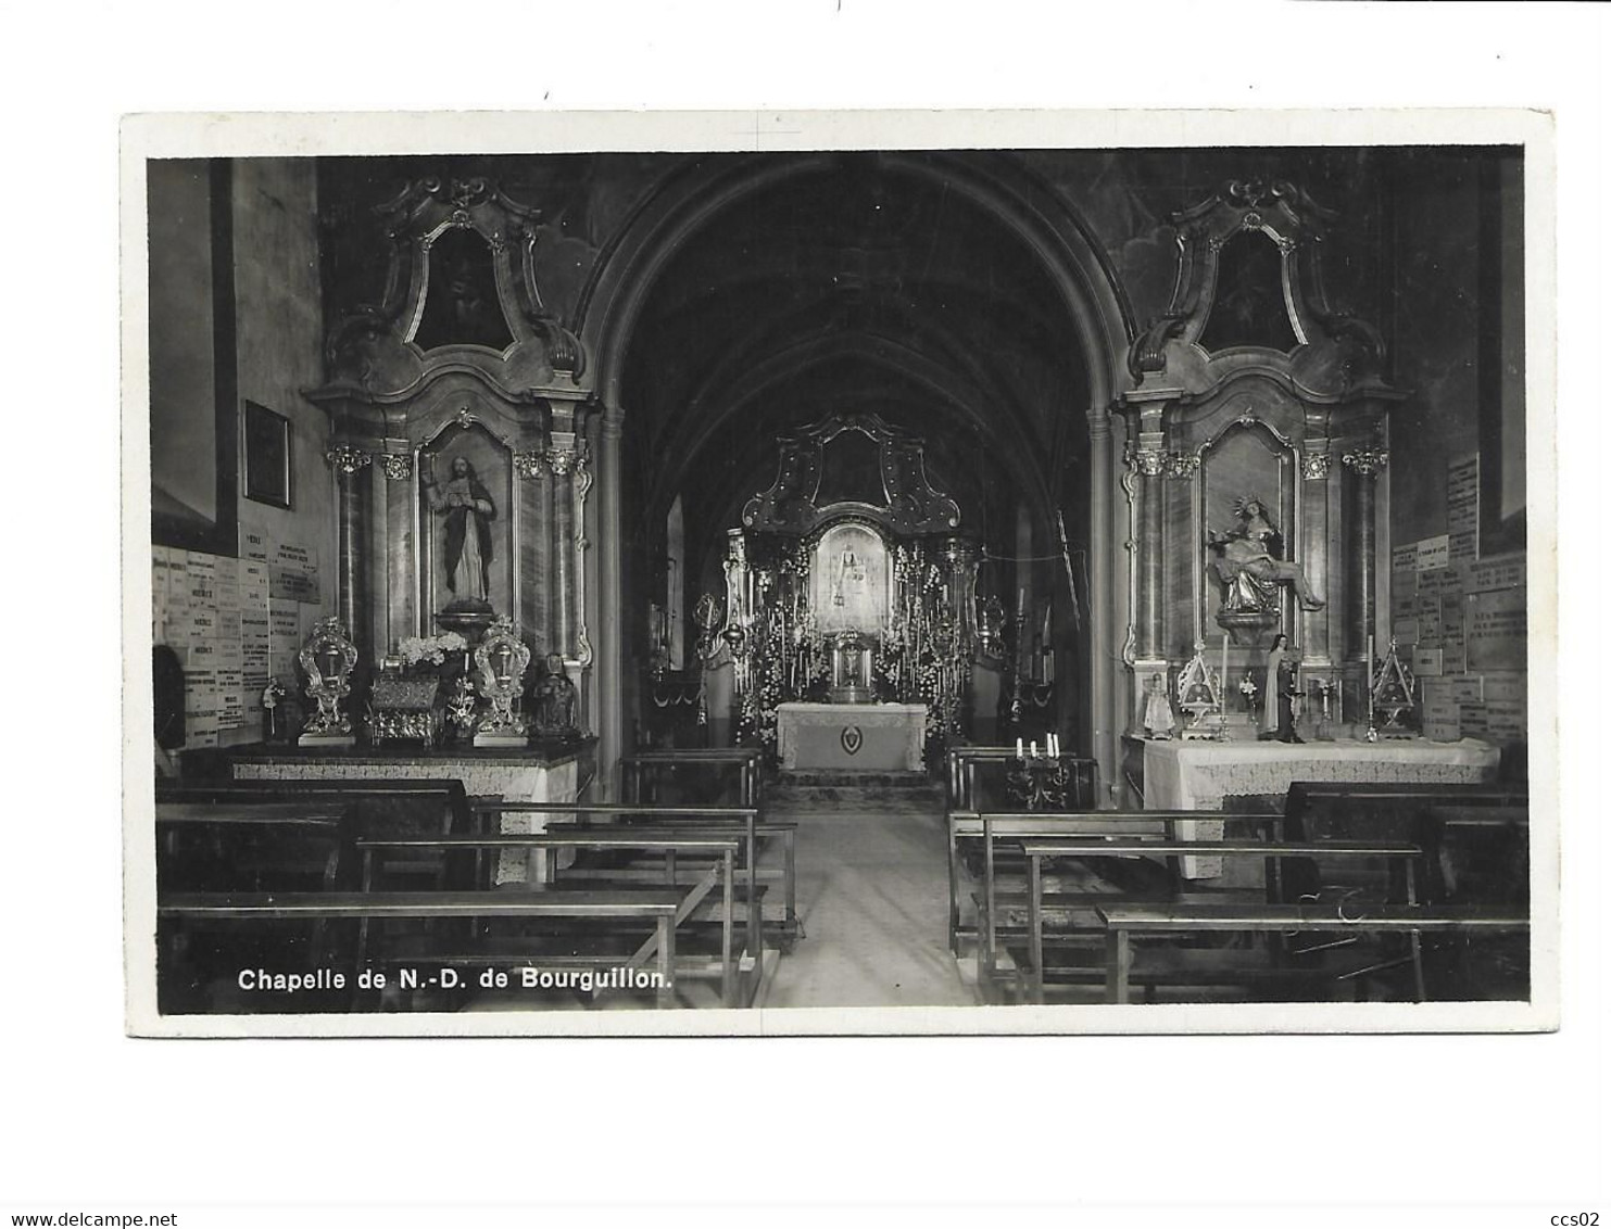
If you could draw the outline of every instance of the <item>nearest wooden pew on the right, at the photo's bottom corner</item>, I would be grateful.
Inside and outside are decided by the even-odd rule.
[[[1129,1002],[1134,952],[1133,934],[1223,934],[1294,931],[1345,934],[1497,933],[1527,929],[1527,915],[1516,910],[1431,908],[1389,905],[1361,913],[1324,905],[1113,905],[1099,907],[1107,928],[1107,1000]],[[1234,979],[1234,978],[1232,978]],[[1416,966],[1416,1000],[1426,986]]]

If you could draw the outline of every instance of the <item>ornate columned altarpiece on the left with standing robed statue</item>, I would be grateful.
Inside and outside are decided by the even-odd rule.
[[[342,620],[369,664],[433,623],[474,639],[509,615],[580,685],[593,406],[538,288],[540,216],[485,179],[412,182],[375,216],[380,301],[330,329],[308,393],[330,416]],[[482,572],[454,570],[466,538]]]

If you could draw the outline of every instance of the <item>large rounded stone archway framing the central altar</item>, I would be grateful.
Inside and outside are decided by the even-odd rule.
[[[1123,726],[1112,662],[1118,660],[1123,648],[1120,641],[1126,614],[1123,586],[1112,583],[1120,573],[1113,525],[1121,494],[1108,408],[1128,385],[1124,354],[1134,333],[1123,292],[1102,250],[1068,201],[1010,155],[881,153],[872,158],[876,161],[876,172],[892,182],[917,185],[918,192],[965,203],[970,216],[984,219],[992,242],[1013,248],[1018,258],[1034,267],[1036,277],[1044,279],[1055,300],[1058,321],[1042,346],[1066,346],[1079,372],[1079,385],[1068,388],[1060,404],[1044,411],[1050,424],[1049,433],[1037,440],[1026,437],[1017,443],[1008,441],[1008,446],[1017,449],[1020,461],[1033,457],[1041,466],[1034,474],[1044,482],[1031,486],[1044,504],[1039,511],[1047,520],[1055,511],[1063,466],[1075,457],[1084,470],[1087,504],[1081,511],[1091,543],[1091,609],[1083,643],[1092,664],[1107,665],[1089,670],[1081,714],[1091,747],[1104,763],[1105,778],[1112,781]],[[777,193],[797,190],[814,177],[841,174],[843,164],[843,155],[814,153],[719,158],[683,168],[662,182],[603,254],[580,303],[577,332],[594,358],[594,382],[603,408],[594,512],[598,523],[593,532],[598,551],[590,561],[596,569],[596,577],[590,581],[596,583],[590,583],[588,590],[599,596],[601,604],[596,620],[596,712],[604,767],[622,754],[625,741],[620,686],[625,681],[622,612],[627,598],[622,440],[627,422],[643,412],[641,406],[632,404],[630,382],[635,348],[643,345],[646,308],[652,304],[667,272],[712,227],[730,221],[736,216],[735,211],[768,193],[777,200]],[[870,277],[876,277],[876,271]],[[901,366],[897,345],[880,345],[875,338],[875,348],[880,351],[880,362]],[[781,370],[785,377],[793,374],[786,364]],[[930,379],[933,382],[938,377]],[[949,401],[947,412],[986,420],[986,430],[1005,420],[1000,417],[1005,411],[1000,404],[992,404],[986,382],[970,375],[965,383],[983,383],[983,388],[965,388],[950,398],[936,396],[936,401]],[[709,435],[710,424],[701,424],[699,430]],[[662,454],[657,453],[657,461],[661,459]],[[681,462],[686,461],[688,456],[683,456]]]

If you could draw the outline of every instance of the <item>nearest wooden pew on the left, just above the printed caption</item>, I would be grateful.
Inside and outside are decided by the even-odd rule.
[[[179,892],[156,904],[158,918],[180,921],[279,921],[287,918],[380,921],[388,918],[591,918],[652,921],[656,1000],[677,1007],[675,889],[599,892]]]

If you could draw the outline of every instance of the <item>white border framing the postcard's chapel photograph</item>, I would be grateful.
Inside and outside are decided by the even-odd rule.
[[[163,1016],[155,1010],[150,451],[143,159],[601,150],[1524,145],[1527,237],[1529,1003],[1303,1003],[752,1012]],[[122,628],[126,1024],[148,1037],[1534,1032],[1559,1024],[1555,134],[1526,110],[656,111],[148,114],[122,124]]]

